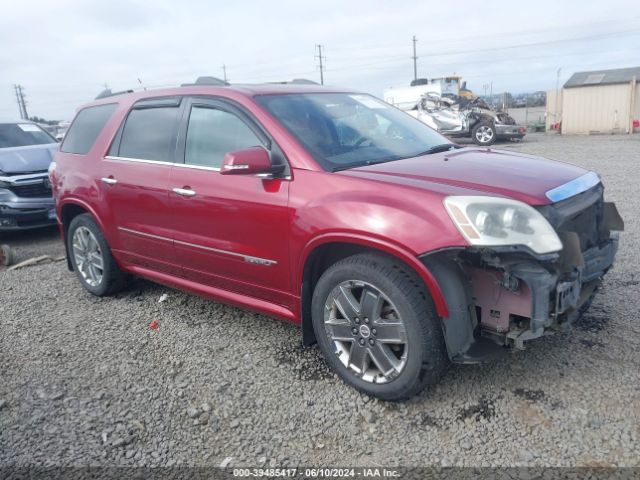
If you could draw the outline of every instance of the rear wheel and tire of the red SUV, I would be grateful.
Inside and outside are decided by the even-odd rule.
[[[128,276],[120,270],[102,230],[87,213],[78,215],[67,231],[67,251],[82,286],[103,297],[122,290]]]

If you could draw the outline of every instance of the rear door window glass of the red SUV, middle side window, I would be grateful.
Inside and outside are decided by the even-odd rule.
[[[176,148],[177,107],[131,110],[122,130],[118,155],[173,162]]]

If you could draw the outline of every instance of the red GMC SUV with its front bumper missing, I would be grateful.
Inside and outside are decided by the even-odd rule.
[[[50,176],[89,292],[136,275],[300,324],[347,383],[388,400],[569,325],[623,229],[593,172],[463,148],[310,85],[102,98]]]

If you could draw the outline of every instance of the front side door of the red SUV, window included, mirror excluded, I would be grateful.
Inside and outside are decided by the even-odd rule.
[[[284,154],[234,104],[191,99],[184,118],[169,181],[184,276],[290,308],[289,180],[220,174],[230,151],[262,146],[286,165]]]

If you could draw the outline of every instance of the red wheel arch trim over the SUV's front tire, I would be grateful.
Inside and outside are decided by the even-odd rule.
[[[414,270],[431,295],[438,316],[448,316],[447,304],[436,278],[412,252],[397,245],[360,235],[322,235],[307,244],[300,256],[300,318],[303,343],[315,343],[311,324],[311,298],[318,279],[334,263],[359,253],[382,253],[395,258]]]

